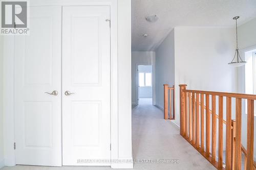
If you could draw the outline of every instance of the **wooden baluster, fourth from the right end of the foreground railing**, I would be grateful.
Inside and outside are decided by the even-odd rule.
[[[223,96],[219,96],[219,155],[218,166],[223,167]]]

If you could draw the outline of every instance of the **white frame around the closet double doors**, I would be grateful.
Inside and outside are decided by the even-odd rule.
[[[30,6],[110,6],[111,9],[111,159],[118,160],[118,36],[117,0],[30,1]],[[3,113],[5,165],[15,166],[14,138],[14,37],[4,37]],[[128,165],[129,166],[129,165]],[[111,162],[111,167],[118,167]]]

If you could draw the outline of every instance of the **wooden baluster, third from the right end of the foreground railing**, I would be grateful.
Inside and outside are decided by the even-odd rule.
[[[226,97],[226,169],[231,169],[231,98]]]

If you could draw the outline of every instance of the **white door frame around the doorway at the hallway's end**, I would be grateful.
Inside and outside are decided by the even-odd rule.
[[[139,104],[139,65],[152,65],[152,105],[156,105],[156,67],[155,63],[142,62],[136,64],[136,105]]]

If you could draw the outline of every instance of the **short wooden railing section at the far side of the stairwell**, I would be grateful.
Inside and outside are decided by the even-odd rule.
[[[175,86],[169,87],[164,84],[164,119],[175,120]],[[173,92],[172,92],[173,91]],[[172,99],[173,93],[173,99]],[[172,116],[172,101],[173,101],[173,116]]]

